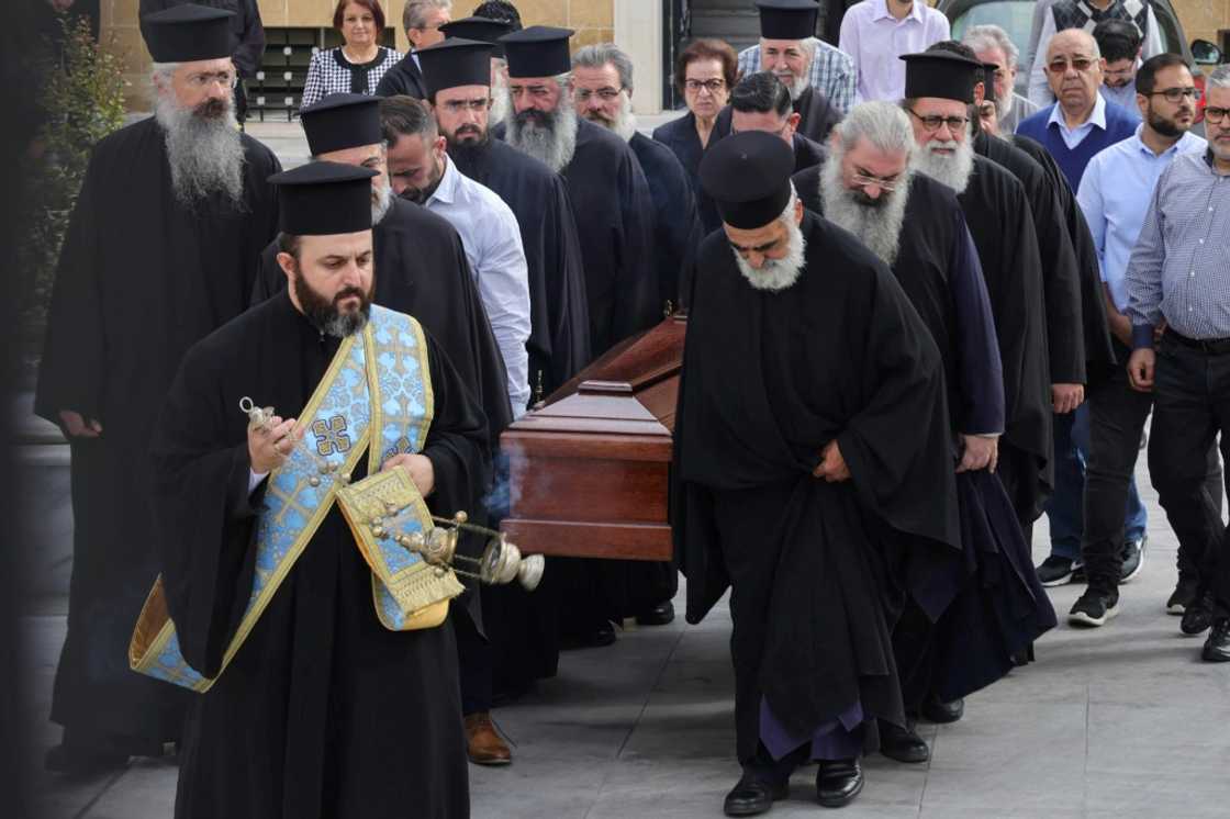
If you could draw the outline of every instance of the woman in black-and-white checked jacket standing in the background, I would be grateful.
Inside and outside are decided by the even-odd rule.
[[[401,54],[380,46],[385,16],[380,0],[339,0],[333,28],[342,46],[312,54],[300,108],[331,93],[375,93],[376,85],[401,60]]]

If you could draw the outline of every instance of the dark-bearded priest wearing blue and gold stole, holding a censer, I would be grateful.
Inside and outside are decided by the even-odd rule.
[[[453,365],[418,321],[371,305],[373,175],[271,178],[289,287],[188,352],[154,434],[170,621],[151,595],[130,659],[198,691],[178,819],[469,815],[456,590],[407,612],[338,508],[343,487],[405,470],[451,515],[488,467]],[[244,398],[277,414],[250,421]],[[444,577],[423,568],[419,585]]]

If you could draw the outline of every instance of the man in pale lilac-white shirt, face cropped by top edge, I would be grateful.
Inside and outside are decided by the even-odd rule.
[[[950,37],[948,18],[920,0],[865,0],[846,11],[838,46],[859,69],[859,102],[898,102],[905,96],[905,63],[897,58]]]

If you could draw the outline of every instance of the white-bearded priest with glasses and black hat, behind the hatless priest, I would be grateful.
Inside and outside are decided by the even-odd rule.
[[[1027,531],[1053,486],[1046,305],[1030,200],[1009,171],[974,155],[972,71],[982,64],[946,52],[902,59],[902,106],[914,125],[916,170],[957,193],[986,279],[1004,366],[1005,425],[995,473]]]

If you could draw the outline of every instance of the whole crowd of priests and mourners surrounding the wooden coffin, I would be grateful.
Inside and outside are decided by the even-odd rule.
[[[995,26],[865,0],[830,44],[815,0],[754,6],[756,46],[684,49],[651,138],[616,46],[411,0],[413,50],[305,105],[290,171],[237,125],[231,12],[143,16],[154,114],[93,149],[36,396],[75,516],[49,769],[175,753],[178,819],[466,817],[467,766],[512,761],[492,710],[670,622],[681,574],[688,622],[733,621],[721,809],[807,765],[840,807],[863,755],[925,762],[918,721],[1030,673],[1044,587],[1117,614],[1150,414],[1165,610],[1230,660],[1230,68],[1202,98],[1141,55],[1148,2],[1060,0],[1039,106]],[[673,311],[675,560],[392,611],[339,493],[400,470],[498,526],[501,433]]]

